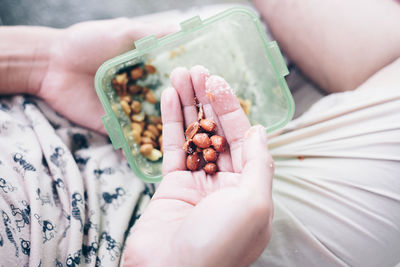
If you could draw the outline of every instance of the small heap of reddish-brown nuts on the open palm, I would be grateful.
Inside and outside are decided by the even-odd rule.
[[[217,172],[219,153],[226,150],[226,139],[216,135],[217,124],[204,116],[203,107],[197,104],[198,119],[185,131],[186,168],[191,171],[203,169],[207,174]]]

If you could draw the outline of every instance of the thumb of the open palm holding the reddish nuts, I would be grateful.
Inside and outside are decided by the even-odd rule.
[[[270,198],[274,162],[268,152],[267,133],[263,126],[253,126],[246,132],[242,161],[242,186],[249,187],[250,192]]]

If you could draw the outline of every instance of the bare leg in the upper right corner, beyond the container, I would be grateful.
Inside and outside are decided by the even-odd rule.
[[[356,88],[400,56],[393,0],[254,0],[282,50],[323,89]]]

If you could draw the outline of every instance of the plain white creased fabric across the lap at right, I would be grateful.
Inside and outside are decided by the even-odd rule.
[[[271,242],[254,266],[400,262],[400,59],[270,137]]]

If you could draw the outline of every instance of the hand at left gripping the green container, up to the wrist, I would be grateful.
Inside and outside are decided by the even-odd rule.
[[[101,122],[104,110],[94,89],[97,69],[104,61],[132,50],[135,40],[174,30],[167,24],[119,18],[56,31],[49,47],[48,70],[37,95],[72,122],[105,133]]]

